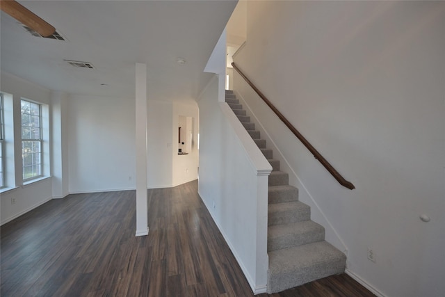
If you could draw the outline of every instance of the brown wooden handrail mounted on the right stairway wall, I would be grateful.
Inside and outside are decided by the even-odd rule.
[[[284,115],[282,115],[282,113],[280,113],[280,111],[278,111],[278,109],[266,98],[266,96],[264,96],[263,93],[261,93],[261,91],[258,90],[258,88],[252,83],[252,81],[250,81],[250,79],[248,79],[243,74],[243,72],[241,72],[241,70],[239,70],[239,68],[236,67],[235,63],[232,63],[232,66],[234,67],[236,72],[238,72],[238,74],[240,74],[241,77],[243,77],[243,79],[245,79],[245,81],[249,84],[249,86],[251,86],[252,89],[259,95],[259,97],[261,97],[261,99],[263,99],[263,101],[270,107],[270,109],[272,109],[272,111],[278,116],[278,118],[280,118],[280,120],[282,120],[282,122],[284,122],[284,125],[286,125],[292,131],[292,133],[298,139],[300,139],[302,144],[305,145],[305,147],[307,147],[309,152],[311,152],[314,155],[315,159],[320,161],[320,163],[326,168],[327,171],[330,172],[330,174],[334,177],[334,179],[337,179],[337,182],[339,182],[342,186],[349,188],[350,190],[355,188],[355,186],[351,182],[348,182],[346,179],[344,179],[340,175],[340,173],[337,170],[335,170],[335,168],[332,167],[332,165],[328,161],[326,161],[326,159],[315,149],[315,147],[313,147],[309,143],[309,141],[307,141],[307,139],[300,134],[300,132],[296,129],[296,127],[293,127],[291,122],[289,122],[289,120],[287,120],[284,117]]]

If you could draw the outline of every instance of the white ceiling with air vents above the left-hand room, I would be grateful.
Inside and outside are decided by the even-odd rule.
[[[37,38],[1,13],[1,70],[51,90],[133,97],[147,64],[149,99],[192,100],[236,1],[19,1],[67,41]],[[185,65],[176,63],[184,58]],[[95,70],[64,59],[86,61]],[[106,84],[107,86],[102,86]]]

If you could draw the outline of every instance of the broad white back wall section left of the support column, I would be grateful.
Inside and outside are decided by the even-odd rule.
[[[71,96],[70,193],[135,188],[135,109],[131,97]]]

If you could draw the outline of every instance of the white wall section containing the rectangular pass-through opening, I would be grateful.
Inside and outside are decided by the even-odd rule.
[[[195,102],[191,103],[179,103],[175,102],[173,104],[173,118],[172,118],[172,185],[177,186],[179,184],[184,184],[186,182],[191,182],[197,179],[197,168],[199,166],[198,161],[198,151],[197,151],[197,133],[198,127],[200,125],[199,109]],[[186,136],[190,131],[186,131],[186,125],[179,125],[179,118],[184,117],[184,123],[186,123],[186,118],[193,118],[193,127],[191,131],[193,133],[193,143],[191,151],[188,154],[178,154],[179,147],[182,151],[186,151],[187,139]],[[184,141],[184,145],[179,145],[178,143],[178,127],[181,126],[181,142]]]

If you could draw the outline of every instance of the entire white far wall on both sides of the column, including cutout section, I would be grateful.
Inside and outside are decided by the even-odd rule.
[[[131,98],[71,96],[70,193],[135,187],[134,109]],[[179,115],[195,118],[197,136],[197,104],[148,100],[148,188],[171,187],[197,179],[196,145],[188,155],[177,154]]]

